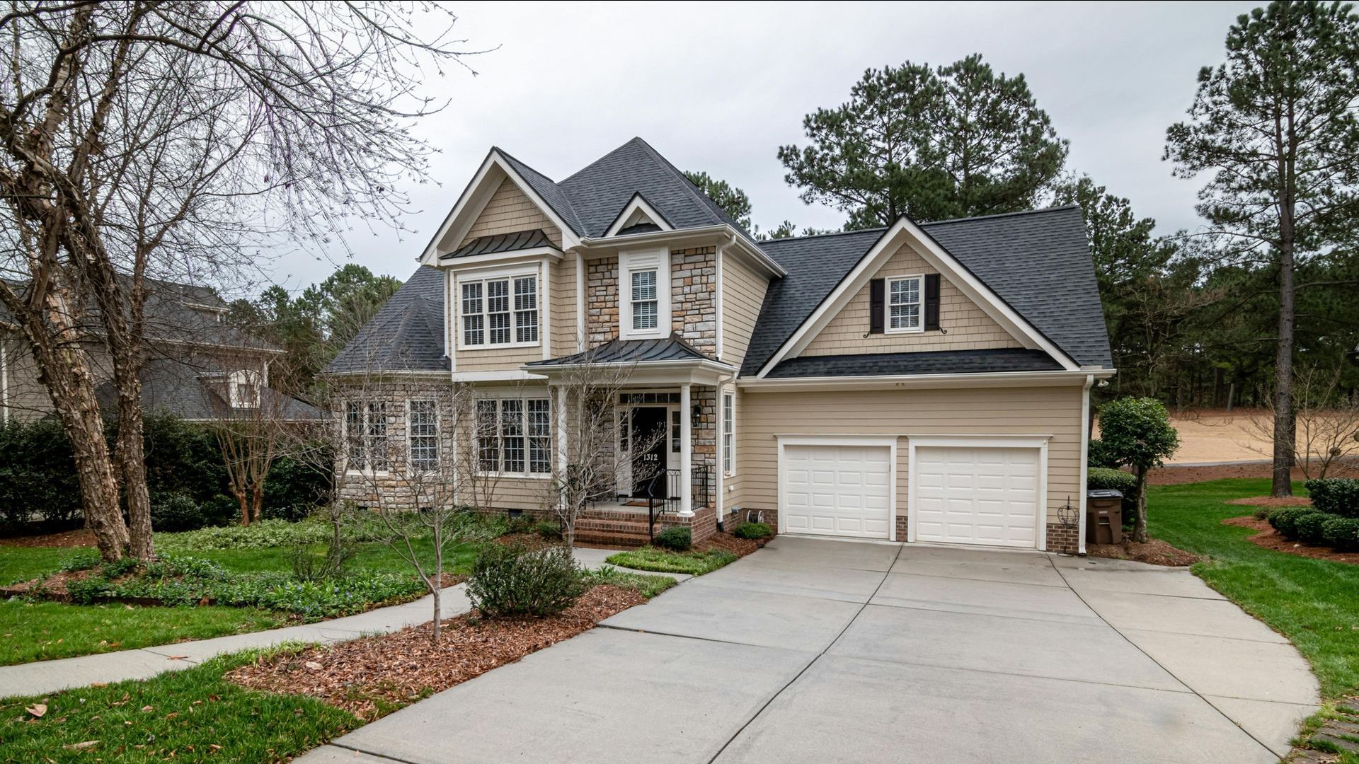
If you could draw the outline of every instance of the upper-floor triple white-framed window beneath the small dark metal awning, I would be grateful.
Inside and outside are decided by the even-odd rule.
[[[462,347],[538,344],[538,277],[459,280]]]

